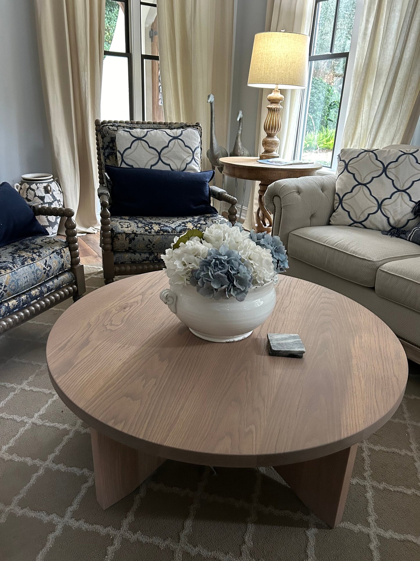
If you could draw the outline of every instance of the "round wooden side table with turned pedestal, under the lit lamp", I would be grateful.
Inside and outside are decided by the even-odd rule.
[[[297,165],[270,165],[259,164],[254,157],[228,157],[220,158],[223,164],[223,174],[237,179],[259,181],[258,209],[256,211],[256,232],[271,232],[273,219],[264,205],[264,194],[267,187],[273,181],[287,179],[289,177],[302,177],[315,175],[322,168],[321,164],[297,164]]]

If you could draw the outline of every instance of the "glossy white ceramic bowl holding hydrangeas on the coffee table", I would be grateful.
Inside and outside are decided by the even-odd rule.
[[[162,290],[160,298],[197,337],[228,343],[249,337],[270,316],[276,305],[277,279],[250,288],[242,302],[233,297],[205,298],[191,284]]]

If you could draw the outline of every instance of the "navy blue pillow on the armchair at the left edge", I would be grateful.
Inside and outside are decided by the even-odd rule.
[[[30,236],[48,236],[48,232],[25,199],[4,181],[0,185],[0,247]]]

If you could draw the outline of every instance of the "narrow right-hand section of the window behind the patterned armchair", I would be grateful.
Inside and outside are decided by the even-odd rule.
[[[156,2],[140,2],[140,30],[143,121],[163,121]]]

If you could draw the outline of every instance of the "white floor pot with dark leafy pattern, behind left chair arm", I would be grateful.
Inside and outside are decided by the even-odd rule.
[[[24,197],[30,206],[63,206],[63,192],[58,179],[50,173],[27,173],[22,181],[15,183],[15,189]],[[37,216],[36,219],[49,233],[56,236],[60,224],[59,216]]]

